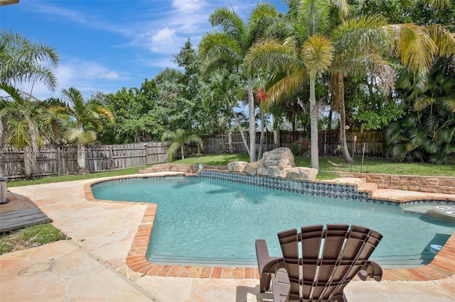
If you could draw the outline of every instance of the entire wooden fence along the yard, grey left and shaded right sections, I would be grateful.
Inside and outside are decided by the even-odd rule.
[[[354,137],[357,137],[354,143]],[[228,152],[229,138],[227,134],[203,135],[205,154],[221,154]],[[245,132],[247,142],[250,137]],[[304,131],[279,131],[279,146],[290,147],[292,142],[301,138],[309,139],[309,133]],[[259,150],[260,132],[256,133],[256,152]],[[365,155],[384,155],[384,142],[380,131],[360,131],[349,129],[346,131],[346,142],[351,156],[360,156],[365,145]],[[232,133],[232,145],[235,153],[246,153],[240,133]],[[127,167],[141,167],[149,164],[167,162],[169,142],[137,142],[124,145],[92,145],[85,149],[85,166],[89,172],[102,172]],[[274,149],[272,132],[264,135],[262,150]],[[35,177],[73,174],[77,171],[77,149],[68,147],[45,147],[38,153],[38,173]],[[196,145],[186,147],[186,157],[197,153]],[[319,155],[341,155],[340,130],[319,131]],[[10,179],[25,177],[23,150],[14,150],[4,147],[0,152],[0,175]]]

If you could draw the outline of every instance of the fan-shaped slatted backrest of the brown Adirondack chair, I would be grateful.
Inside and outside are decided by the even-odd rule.
[[[289,298],[331,301],[368,262],[382,235],[359,225],[310,225],[278,233],[289,275]],[[301,243],[301,255],[299,244]]]

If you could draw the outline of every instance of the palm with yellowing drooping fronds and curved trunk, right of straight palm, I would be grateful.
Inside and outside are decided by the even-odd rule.
[[[385,56],[390,53],[387,21],[380,16],[360,16],[343,21],[331,32],[336,49],[331,67],[330,90],[335,109],[340,113],[340,141],[344,160],[353,163],[346,141],[344,79],[358,74],[376,77],[387,93],[395,83],[395,72]]]

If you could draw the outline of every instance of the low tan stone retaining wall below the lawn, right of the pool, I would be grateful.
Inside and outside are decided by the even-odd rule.
[[[437,194],[455,194],[455,177],[424,177],[417,175],[392,175],[338,172],[341,177],[365,178],[378,184],[379,189],[398,189]]]

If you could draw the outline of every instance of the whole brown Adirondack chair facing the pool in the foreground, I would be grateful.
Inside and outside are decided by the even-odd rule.
[[[278,233],[283,257],[268,258],[264,240],[257,240],[260,291],[272,281],[274,301],[346,301],[343,289],[355,275],[382,279],[381,267],[368,260],[381,238],[360,225],[310,225]]]

